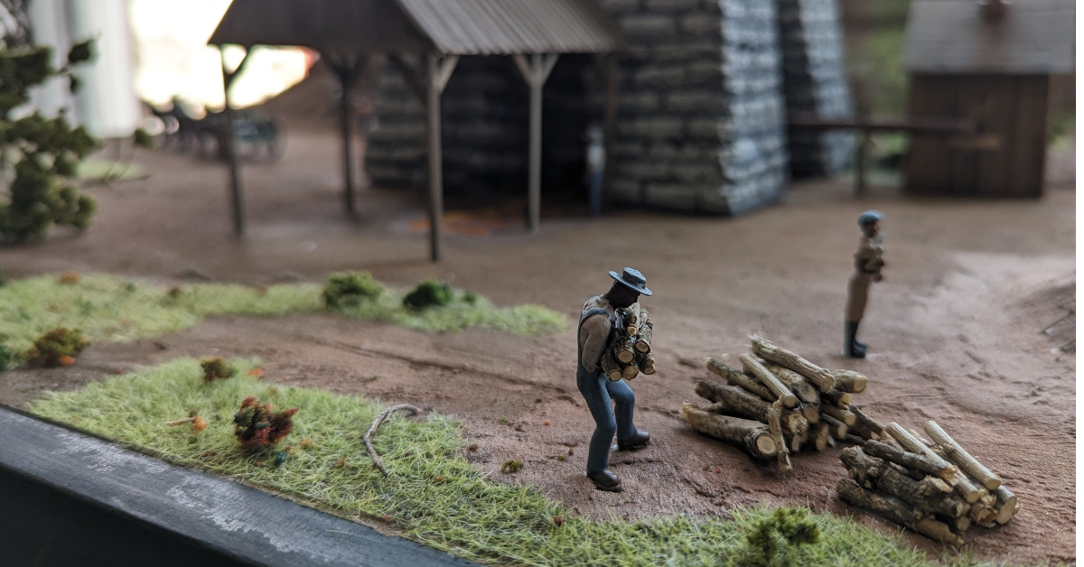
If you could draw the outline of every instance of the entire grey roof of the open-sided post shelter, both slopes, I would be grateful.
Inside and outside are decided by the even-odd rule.
[[[233,0],[208,43],[457,55],[622,47],[594,0]]]

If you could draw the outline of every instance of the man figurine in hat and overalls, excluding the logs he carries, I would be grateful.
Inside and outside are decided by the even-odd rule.
[[[612,330],[618,324],[615,310],[635,305],[641,295],[649,296],[651,291],[643,274],[632,268],[625,268],[620,274],[609,274],[614,279],[609,292],[588,299],[580,312],[576,385],[595,420],[595,433],[588,452],[588,478],[598,490],[620,492],[621,479],[607,469],[614,434],[617,434],[620,450],[644,447],[651,436],[636,429],[632,423],[632,408],[636,401],[632,388],[623,379],[610,382],[599,360],[609,348]],[[616,412],[611,400],[617,404]]]

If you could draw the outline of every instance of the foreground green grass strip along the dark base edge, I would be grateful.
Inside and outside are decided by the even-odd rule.
[[[247,375],[205,384],[198,361],[180,359],[67,392],[47,392],[31,411],[129,443],[182,466],[229,476],[351,519],[386,523],[404,536],[488,565],[743,565],[744,532],[770,508],[732,510],[733,520],[686,516],[597,521],[575,516],[529,487],[488,480],[462,455],[460,426],[440,415],[395,416],[374,437],[390,477],[360,441],[382,407],[360,397],[267,384]],[[241,400],[299,408],[280,443],[296,453],[275,467],[278,449],[244,453],[232,435]],[[166,422],[196,409],[202,433]],[[302,439],[311,446],[299,448]],[[345,458],[346,466],[339,466]],[[586,482],[586,480],[583,480]],[[564,519],[556,526],[554,517]],[[899,536],[830,514],[811,515],[820,541],[783,563],[802,566],[928,566]],[[267,518],[278,521],[279,518]],[[970,555],[945,559],[979,565]]]

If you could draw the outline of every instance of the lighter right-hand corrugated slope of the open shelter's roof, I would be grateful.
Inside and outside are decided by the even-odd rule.
[[[621,39],[592,0],[396,0],[437,50],[459,55],[608,53]]]

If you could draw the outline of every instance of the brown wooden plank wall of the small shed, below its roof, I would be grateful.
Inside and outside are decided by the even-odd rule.
[[[1048,75],[916,74],[908,114],[969,118],[978,126],[978,136],[914,137],[904,163],[904,191],[1041,196],[1048,99]]]

